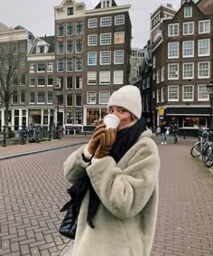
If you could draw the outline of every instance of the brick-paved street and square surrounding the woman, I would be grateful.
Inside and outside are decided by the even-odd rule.
[[[5,147],[0,148],[0,156],[85,140],[88,137],[64,137],[55,142]],[[192,140],[180,139],[179,145],[171,144],[171,140],[160,145],[160,137],[154,140],[162,166],[151,256],[213,255],[211,173],[198,158],[190,157]],[[56,256],[67,251],[69,240],[58,232],[63,218],[60,207],[69,199],[62,164],[77,147],[0,161],[0,255]]]

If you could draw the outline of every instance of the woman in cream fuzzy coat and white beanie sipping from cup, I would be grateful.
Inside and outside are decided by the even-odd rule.
[[[158,149],[141,117],[140,90],[116,90],[107,107],[120,119],[118,128],[100,122],[88,145],[64,163],[72,187],[83,181],[73,193],[81,199],[71,255],[148,256],[158,207]]]

